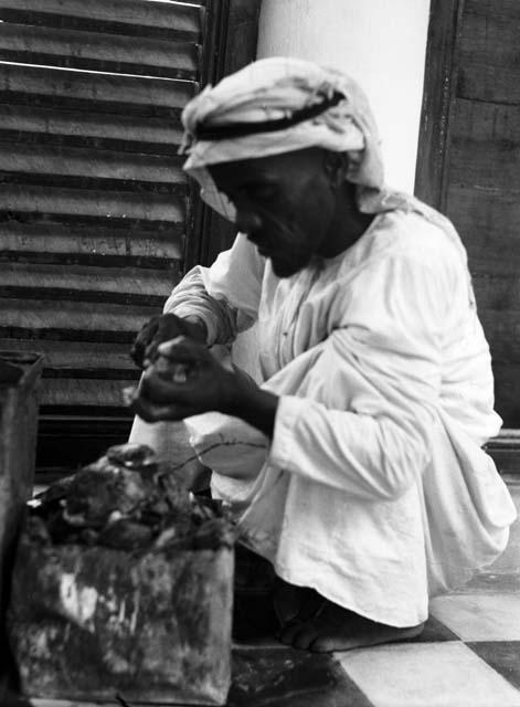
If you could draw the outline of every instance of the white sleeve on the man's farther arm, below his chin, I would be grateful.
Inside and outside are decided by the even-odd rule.
[[[193,267],[173,289],[165,314],[195,316],[208,329],[208,344],[231,344],[256,320],[265,258],[238,233],[211,267]]]

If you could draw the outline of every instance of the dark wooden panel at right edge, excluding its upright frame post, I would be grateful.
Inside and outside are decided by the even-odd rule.
[[[446,210],[464,235],[497,410],[520,428],[520,3],[466,0]]]

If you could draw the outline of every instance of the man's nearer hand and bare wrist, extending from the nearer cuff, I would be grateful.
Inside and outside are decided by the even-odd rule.
[[[227,370],[208,348],[185,336],[158,347],[131,401],[146,422],[183,420],[217,411],[242,418],[272,436],[278,398],[245,373]]]

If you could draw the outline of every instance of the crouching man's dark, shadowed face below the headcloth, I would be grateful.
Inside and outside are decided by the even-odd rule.
[[[236,226],[290,277],[320,253],[335,209],[325,151],[309,148],[210,166],[217,189],[236,208]]]

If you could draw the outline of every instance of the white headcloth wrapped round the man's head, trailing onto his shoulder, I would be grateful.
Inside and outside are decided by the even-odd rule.
[[[310,119],[275,131],[243,137],[199,139],[201,128],[235,124],[262,124],[293,117],[295,112],[316,106],[335,94],[343,98]],[[422,213],[429,221],[455,233],[453,225],[414,197],[384,183],[380,137],[368,98],[348,75],[300,59],[263,59],[206,86],[182,112],[183,168],[201,186],[202,199],[233,221],[235,209],[220,192],[206,167],[217,162],[254,159],[308,147],[347,152],[347,179],[358,184],[358,205],[364,213],[404,209]],[[458,242],[458,236],[455,235]]]

